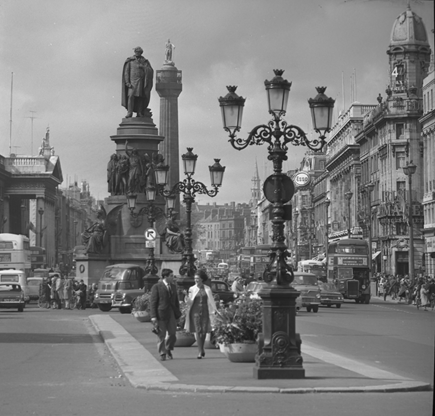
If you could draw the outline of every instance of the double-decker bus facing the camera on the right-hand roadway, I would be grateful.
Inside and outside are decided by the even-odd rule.
[[[370,303],[367,241],[348,238],[328,244],[328,281],[335,283],[345,299]]]

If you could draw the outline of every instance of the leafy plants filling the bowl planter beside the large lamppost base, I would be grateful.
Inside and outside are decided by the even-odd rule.
[[[219,344],[253,343],[263,328],[263,301],[241,295],[226,307],[219,307],[213,336]]]

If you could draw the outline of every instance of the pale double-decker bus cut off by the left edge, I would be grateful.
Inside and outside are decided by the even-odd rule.
[[[0,270],[21,270],[31,276],[30,241],[25,235],[0,234]]]

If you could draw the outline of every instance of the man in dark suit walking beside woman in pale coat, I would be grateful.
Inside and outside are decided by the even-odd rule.
[[[151,289],[150,299],[151,322],[158,328],[159,341],[157,349],[162,361],[166,357],[172,359],[177,330],[177,319],[180,318],[180,303],[174,273],[171,269],[162,270],[162,278]],[[168,338],[166,339],[166,333]]]

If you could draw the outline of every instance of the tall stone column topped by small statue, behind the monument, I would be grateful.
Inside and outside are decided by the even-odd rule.
[[[169,165],[169,186],[180,181],[180,151],[178,145],[178,96],[182,90],[181,71],[172,60],[175,46],[170,40],[166,43],[165,62],[156,71],[156,91],[160,96],[159,134],[165,140],[159,143],[159,153]],[[180,196],[176,195],[176,210],[179,211]]]

